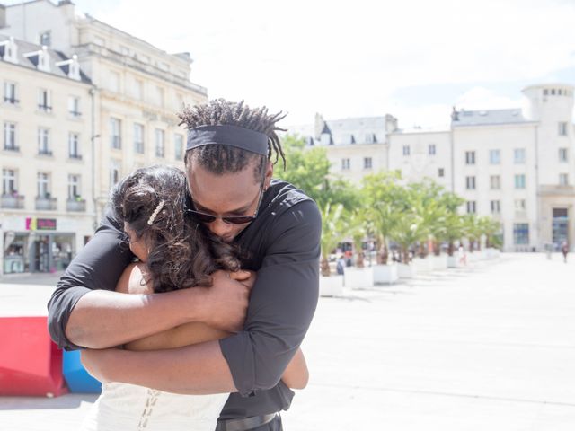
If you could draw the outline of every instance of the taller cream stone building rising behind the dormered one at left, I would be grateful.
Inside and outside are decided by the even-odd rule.
[[[153,163],[181,165],[185,131],[176,112],[208,100],[190,82],[188,53],[168,54],[145,40],[78,13],[75,4],[35,0],[5,6],[0,33],[77,56],[94,86],[94,160],[97,216],[111,186]]]

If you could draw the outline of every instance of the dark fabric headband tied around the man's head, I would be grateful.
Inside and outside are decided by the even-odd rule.
[[[255,154],[268,155],[268,136],[237,126],[200,126],[188,131],[186,150],[204,145],[231,145]]]

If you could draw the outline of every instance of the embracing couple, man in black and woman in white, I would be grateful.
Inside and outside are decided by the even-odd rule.
[[[119,182],[49,301],[50,334],[102,381],[84,430],[281,430],[307,383],[321,217],[271,178],[279,114],[217,100],[179,117],[185,172]]]

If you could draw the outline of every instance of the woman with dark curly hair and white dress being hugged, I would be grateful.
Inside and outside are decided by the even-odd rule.
[[[150,294],[210,286],[210,274],[217,270],[227,271],[240,281],[252,277],[239,270],[232,246],[185,215],[188,196],[184,173],[159,165],[129,174],[112,191],[111,206],[124,224],[129,249],[138,259],[120,277],[118,292]],[[188,323],[137,339],[123,348],[176,348],[228,335],[202,323]],[[304,356],[298,351],[282,380],[300,389],[307,377]],[[102,395],[81,429],[212,431],[227,396],[181,395],[128,383],[103,383]]]

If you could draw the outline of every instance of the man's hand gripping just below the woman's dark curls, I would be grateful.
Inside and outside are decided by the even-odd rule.
[[[216,271],[212,274],[212,286],[194,287],[203,289],[198,321],[217,330],[227,332],[242,330],[253,283],[250,285],[252,276],[246,278],[245,275],[238,275],[237,277],[243,277],[246,281],[234,280],[226,271]]]

